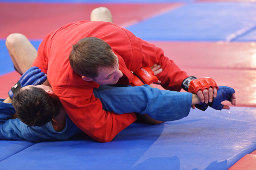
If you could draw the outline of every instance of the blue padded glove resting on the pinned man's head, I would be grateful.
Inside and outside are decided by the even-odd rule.
[[[31,67],[20,77],[19,81],[12,86],[11,90],[8,92],[8,96],[12,99],[14,92],[20,88],[28,85],[36,86],[43,84],[46,79],[47,77],[44,72],[41,72],[41,69],[38,67]]]

